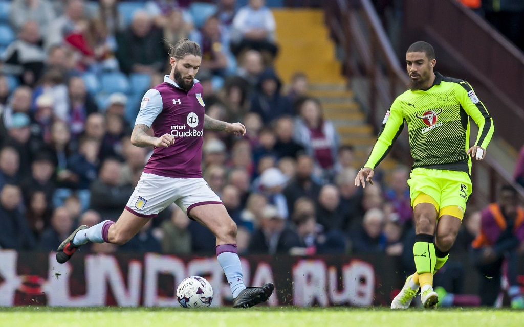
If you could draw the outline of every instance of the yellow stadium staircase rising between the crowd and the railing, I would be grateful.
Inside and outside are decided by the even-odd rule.
[[[361,106],[355,101],[342,75],[341,63],[336,60],[335,44],[329,38],[321,9],[272,10],[277,22],[280,46],[275,66],[282,81],[288,84],[293,73],[308,76],[309,95],[320,99],[324,117],[334,122],[341,144],[355,148],[355,168],[363,165],[375,143],[373,127],[366,122]],[[299,54],[299,55],[297,55]],[[389,157],[380,164],[386,170],[397,163]]]

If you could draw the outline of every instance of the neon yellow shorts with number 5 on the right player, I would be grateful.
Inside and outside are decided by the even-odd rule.
[[[408,179],[411,207],[433,204],[438,218],[451,215],[462,220],[473,186],[465,172],[415,168]]]

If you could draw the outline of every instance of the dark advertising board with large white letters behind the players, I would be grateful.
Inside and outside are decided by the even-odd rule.
[[[398,258],[385,255],[250,255],[241,261],[246,284],[275,283],[269,306],[387,306],[405,278]],[[213,286],[212,306],[232,300],[214,256],[77,254],[59,264],[54,253],[3,250],[0,263],[0,306],[179,306],[174,288],[194,275]],[[475,274],[471,269],[465,271]]]

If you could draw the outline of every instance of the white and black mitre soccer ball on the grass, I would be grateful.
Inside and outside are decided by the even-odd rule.
[[[213,288],[205,278],[191,276],[178,285],[177,299],[184,308],[207,308],[213,301]]]

